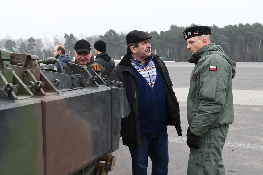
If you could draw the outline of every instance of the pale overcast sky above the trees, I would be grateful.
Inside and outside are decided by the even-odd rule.
[[[263,24],[260,0],[4,0],[0,39],[167,31],[169,26]]]

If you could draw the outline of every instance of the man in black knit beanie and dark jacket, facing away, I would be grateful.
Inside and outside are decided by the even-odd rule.
[[[106,43],[102,40],[98,40],[94,43],[94,48],[95,54],[97,55],[94,62],[99,63],[105,67],[111,76],[111,71],[115,67],[115,62],[106,52]]]

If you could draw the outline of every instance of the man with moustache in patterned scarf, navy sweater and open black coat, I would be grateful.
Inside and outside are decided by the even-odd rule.
[[[147,174],[148,157],[152,175],[168,173],[167,125],[182,135],[179,104],[172,89],[165,63],[151,54],[149,39],[143,31],[126,36],[127,54],[113,68],[110,80],[123,82],[131,113],[122,119],[121,136],[132,158],[133,175]]]

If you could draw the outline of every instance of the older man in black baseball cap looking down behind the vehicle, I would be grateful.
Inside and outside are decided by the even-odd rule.
[[[74,53],[75,60],[72,61],[71,63],[75,63],[75,64],[79,64],[83,66],[90,66],[91,64],[94,63],[94,57],[92,55],[90,43],[85,39],[78,40],[75,43],[73,53]],[[109,78],[109,73],[107,69],[103,67],[102,65],[100,65],[100,69],[101,69],[101,72],[99,75],[100,76],[107,75],[107,78],[106,78],[107,80]],[[67,67],[67,65],[64,66],[64,70],[71,71],[71,69]]]

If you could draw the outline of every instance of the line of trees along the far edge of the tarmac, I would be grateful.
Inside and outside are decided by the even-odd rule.
[[[191,53],[186,49],[186,40],[183,37],[183,31],[196,24],[186,27],[171,25],[168,31],[148,32],[152,35],[150,44],[152,53],[156,53],[163,60],[169,61],[187,61]],[[261,23],[228,25],[219,28],[215,25],[211,28],[211,42],[222,46],[225,53],[235,61],[256,62],[263,54],[261,38],[263,27]],[[55,35],[53,42],[46,37],[44,39],[19,38],[13,40],[10,35],[0,40],[0,48],[7,49],[11,52],[37,55],[40,59],[52,57],[53,49],[56,45],[62,44],[66,49],[66,54],[73,58],[73,48],[76,41],[86,39],[90,42],[94,50],[94,43],[97,40],[103,40],[107,44],[108,54],[113,59],[121,59],[126,51],[126,35],[128,32],[116,33],[109,29],[104,35],[81,36],[75,37],[72,33],[64,33],[64,38]],[[261,58],[262,60],[262,58]]]

